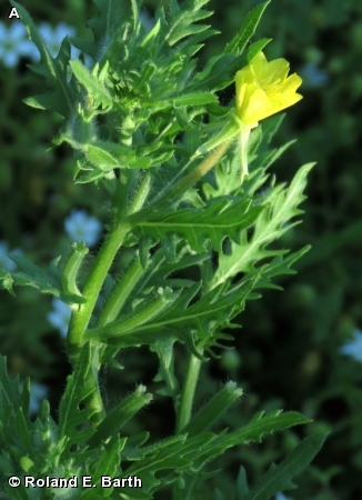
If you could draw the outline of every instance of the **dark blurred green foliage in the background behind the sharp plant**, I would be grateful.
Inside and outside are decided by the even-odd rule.
[[[159,0],[145,3],[147,19]],[[208,60],[240,27],[255,1],[212,0],[219,37],[203,49]],[[83,0],[23,1],[37,22],[66,22],[80,34],[92,9]],[[9,26],[11,22],[4,19]],[[240,426],[257,410],[283,407],[313,418],[310,432],[331,430],[322,452],[299,480],[293,499],[362,498],[362,366],[339,352],[362,328],[362,3],[360,0],[273,0],[258,37],[273,38],[268,58],[284,57],[292,72],[304,74],[303,101],[283,121],[276,143],[298,138],[278,161],[279,179],[290,180],[298,166],[316,161],[304,202],[303,223],[285,234],[288,244],[312,250],[295,267],[299,273],[280,281],[284,292],[270,290],[248,304],[235,336],[237,351],[220,352],[202,367],[197,406],[220,388],[220,379],[239,380],[245,396],[228,417]],[[104,207],[90,184],[73,184],[73,159],[67,147],[49,149],[59,126],[57,116],[31,110],[22,99],[34,93],[34,76],[21,59],[7,68],[0,61],[0,240],[20,248],[42,264],[64,248],[64,219],[73,208],[87,209],[103,223]],[[233,99],[234,89],[221,92]],[[252,166],[251,166],[252,167]],[[40,249],[42,249],[40,251]],[[121,253],[119,266],[127,261]],[[47,320],[51,299],[17,290],[0,291],[0,352],[13,373],[49,386],[57,402],[69,372],[63,340]],[[178,370],[184,370],[180,347]],[[103,374],[109,407],[117,394],[144,383],[153,391],[157,359],[145,348],[124,351],[123,372]],[[152,413],[152,414],[151,414]],[[147,428],[157,437],[173,427],[171,403],[159,398],[152,412],[128,424],[129,433]],[[224,422],[223,422],[224,423]],[[299,440],[295,431],[275,436],[262,447],[233,450],[219,466],[220,490],[228,496],[230,478],[242,463],[250,478],[264,472]],[[231,492],[229,493],[231,496]],[[202,498],[202,497],[200,497]]]

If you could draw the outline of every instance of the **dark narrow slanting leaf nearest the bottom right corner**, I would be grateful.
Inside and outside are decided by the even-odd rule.
[[[305,438],[278,466],[269,471],[251,488],[243,500],[269,500],[279,491],[296,488],[292,478],[299,474],[313,460],[322,448],[326,433],[312,434]]]

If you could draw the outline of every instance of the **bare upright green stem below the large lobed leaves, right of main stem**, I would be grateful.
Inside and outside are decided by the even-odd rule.
[[[198,351],[202,356],[203,349],[198,349]],[[190,422],[193,398],[197,389],[200,368],[201,368],[201,360],[191,352],[189,357],[187,376],[183,382],[181,402],[178,411],[178,421],[177,421],[178,434],[180,434],[182,429]]]

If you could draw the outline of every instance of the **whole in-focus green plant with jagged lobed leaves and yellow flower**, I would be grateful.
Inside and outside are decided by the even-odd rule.
[[[140,13],[142,0],[93,0],[92,36],[66,38],[56,57],[27,10],[10,0],[40,52],[40,66],[31,69],[41,76],[41,91],[47,80],[46,93],[27,103],[63,118],[53,143],[73,150],[77,183],[97,183],[108,224],[97,248],[90,250],[86,234],[78,234],[47,272],[14,254],[18,269],[0,269],[10,292],[12,284],[36,288],[71,313],[67,324],[61,321],[71,374],[58,409],[51,411],[44,400],[29,419],[30,382],[10,379],[0,356],[0,394],[6,394],[0,483],[7,498],[29,500],[24,473],[29,486],[32,479],[32,486],[44,487],[48,478],[49,487],[57,488],[71,487],[81,471],[97,487],[92,494],[89,488],[78,494],[87,500],[97,494],[152,500],[164,491],[174,500],[191,499],[201,490],[215,498],[214,484],[228,484],[228,498],[267,500],[291,488],[321,448],[324,437],[311,436],[250,488],[247,478],[242,490],[238,480],[232,494],[227,473],[221,471],[217,482],[208,480],[212,460],[222,457],[232,467],[228,450],[310,420],[290,411],[261,411],[245,416],[249,423],[237,419],[235,429],[225,430],[227,411],[242,396],[237,382],[210,394],[195,411],[195,398],[203,398],[207,356],[232,347],[229,331],[247,302],[271,288],[273,278],[291,273],[291,264],[308,250],[286,256],[283,242],[273,244],[299,222],[312,168],[300,168],[289,187],[268,181],[268,166],[286,147],[275,152],[268,147],[281,120],[271,119],[268,133],[253,141],[254,172],[248,189],[239,189],[239,170],[248,173],[251,131],[259,132],[261,120],[301,99],[301,79],[289,76],[288,61],[267,61],[262,51],[270,40],[250,44],[270,1],[258,2],[224,51],[198,71],[197,52],[217,33],[203,21],[211,14],[203,9],[209,0],[159,2],[151,31]],[[71,44],[83,52],[76,60]],[[223,107],[218,91],[233,81],[235,104]],[[207,136],[200,133],[204,128]],[[218,132],[210,137],[210,130]],[[240,148],[232,150],[237,141]],[[69,176],[67,166],[59,167]],[[207,177],[211,169],[213,176]],[[267,183],[268,193],[259,196]],[[97,201],[88,198],[87,203]],[[167,406],[160,402],[162,409],[172,408],[169,420],[174,422],[162,440],[158,431],[129,427],[152,401],[145,387],[138,386],[111,410],[101,390],[103,370],[122,368],[118,357],[131,348],[142,348],[137,379],[158,358],[155,387],[169,398]],[[132,373],[114,383],[129,392],[127,386],[138,382]],[[159,411],[158,417],[162,420]],[[10,476],[22,489],[11,488]]]

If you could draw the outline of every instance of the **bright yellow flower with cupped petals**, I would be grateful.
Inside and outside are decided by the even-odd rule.
[[[295,92],[302,79],[296,73],[290,77],[288,73],[289,62],[285,59],[268,62],[263,52],[237,72],[237,114],[244,126],[257,127],[260,120],[302,99]]]

